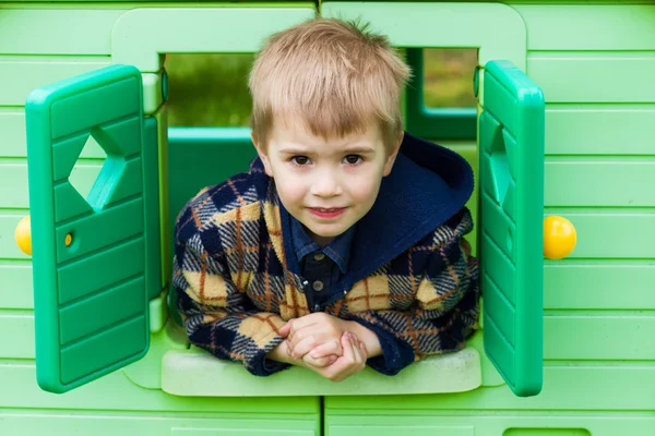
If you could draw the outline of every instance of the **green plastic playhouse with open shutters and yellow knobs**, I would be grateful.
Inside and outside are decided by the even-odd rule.
[[[476,171],[481,331],[394,377],[254,377],[170,304],[177,213],[254,150],[168,128],[165,56],[255,52],[318,13],[403,48],[407,131]],[[425,106],[424,48],[477,49],[477,108]],[[0,435],[655,435],[650,69],[645,0],[0,0]]]

